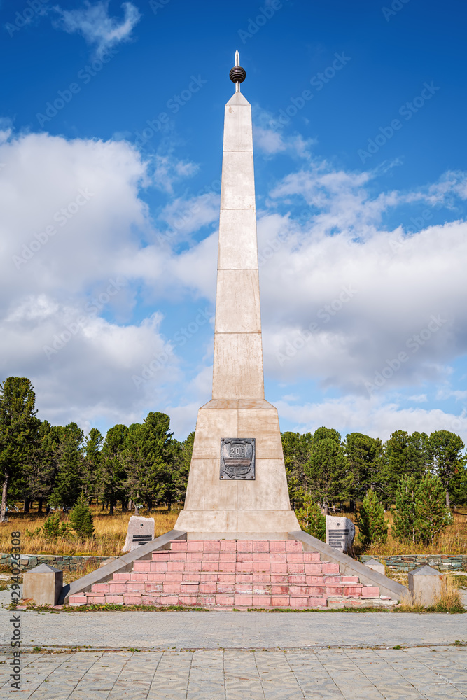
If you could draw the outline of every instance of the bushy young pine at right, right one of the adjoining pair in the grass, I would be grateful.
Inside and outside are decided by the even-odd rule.
[[[426,474],[418,484],[415,497],[417,542],[434,545],[436,535],[452,523],[451,511],[446,505],[446,491],[439,477]]]

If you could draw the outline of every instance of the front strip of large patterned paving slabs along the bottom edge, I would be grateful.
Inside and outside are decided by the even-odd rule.
[[[23,654],[12,700],[460,700],[467,650],[197,650]],[[14,693],[14,694],[13,694]]]

